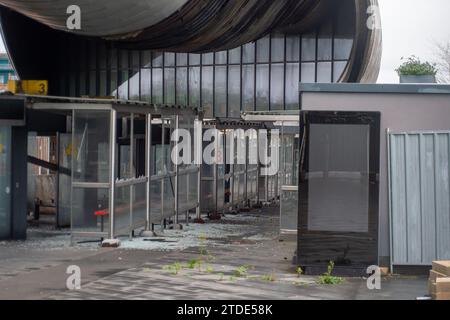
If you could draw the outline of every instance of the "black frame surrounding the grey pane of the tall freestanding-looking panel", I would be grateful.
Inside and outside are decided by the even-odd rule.
[[[378,217],[379,217],[379,171],[380,171],[380,119],[379,112],[334,112],[302,111],[300,131],[303,135],[301,163],[299,169],[299,217],[297,238],[297,264],[308,273],[326,271],[328,263],[333,261],[336,270],[342,274],[365,274],[370,265],[378,265]],[[309,132],[311,124],[366,124],[370,126],[369,142],[369,212],[368,232],[330,232],[308,229],[308,153],[310,147]],[[352,244],[352,247],[350,247]],[[351,261],[346,254],[357,247],[358,261]],[[337,256],[338,253],[343,256]],[[334,256],[331,256],[334,254]],[[308,258],[308,256],[313,256]],[[319,258],[318,258],[319,257]]]

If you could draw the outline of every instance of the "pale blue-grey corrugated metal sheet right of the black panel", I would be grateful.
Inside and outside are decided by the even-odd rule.
[[[450,259],[450,131],[388,139],[391,264]]]

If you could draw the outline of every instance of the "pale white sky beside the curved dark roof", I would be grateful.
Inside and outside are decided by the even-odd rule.
[[[383,27],[379,83],[398,83],[402,57],[434,59],[434,42],[450,40],[450,0],[378,0]],[[4,51],[0,41],[0,51]]]

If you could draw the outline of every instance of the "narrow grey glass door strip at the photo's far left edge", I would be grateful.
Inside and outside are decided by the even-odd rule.
[[[11,128],[0,126],[0,239],[11,236]]]

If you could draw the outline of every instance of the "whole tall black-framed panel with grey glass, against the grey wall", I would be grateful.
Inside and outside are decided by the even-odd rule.
[[[365,274],[378,260],[380,114],[305,112],[298,263]]]

